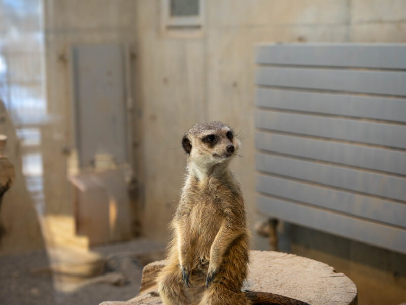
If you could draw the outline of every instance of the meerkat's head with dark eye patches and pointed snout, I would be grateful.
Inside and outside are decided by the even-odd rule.
[[[240,142],[230,127],[214,121],[194,125],[183,136],[182,146],[188,154],[188,164],[207,171],[218,163],[228,164]]]

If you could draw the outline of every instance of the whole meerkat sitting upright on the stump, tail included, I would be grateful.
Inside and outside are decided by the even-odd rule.
[[[182,147],[188,174],[170,225],[167,265],[157,277],[163,304],[306,304],[241,290],[251,235],[240,186],[228,169],[240,148],[232,129],[219,121],[198,123]]]

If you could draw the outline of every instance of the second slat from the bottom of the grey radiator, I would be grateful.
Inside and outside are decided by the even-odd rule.
[[[406,228],[406,204],[274,176],[258,175],[257,191]]]

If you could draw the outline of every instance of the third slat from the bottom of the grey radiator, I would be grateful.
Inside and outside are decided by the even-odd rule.
[[[260,153],[256,154],[256,169],[386,198],[406,198],[406,178],[397,176]]]

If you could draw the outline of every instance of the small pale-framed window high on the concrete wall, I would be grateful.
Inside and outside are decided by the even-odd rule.
[[[162,30],[172,34],[201,33],[204,0],[162,0]]]

